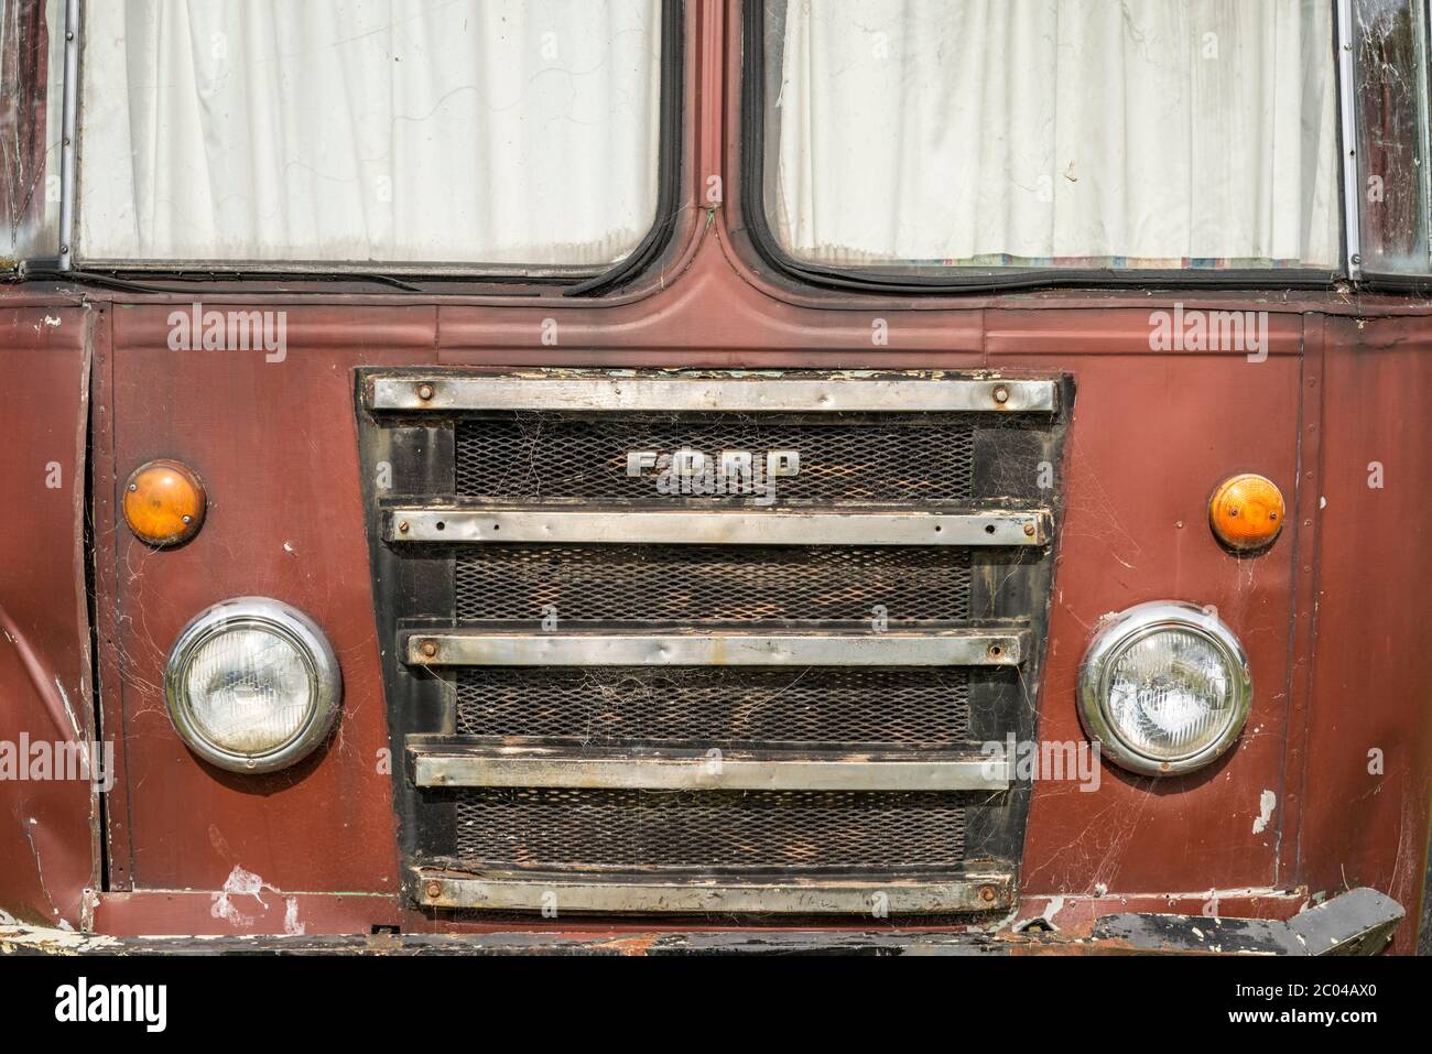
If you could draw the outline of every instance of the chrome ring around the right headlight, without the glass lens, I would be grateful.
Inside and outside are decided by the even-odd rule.
[[[1230,717],[1219,738],[1199,750],[1171,759],[1153,758],[1131,748],[1107,710],[1108,676],[1114,662],[1130,646],[1169,629],[1194,633],[1210,643],[1223,657],[1233,687]],[[1253,675],[1243,644],[1216,614],[1179,600],[1154,600],[1136,604],[1100,627],[1080,664],[1078,702],[1084,729],[1098,742],[1106,758],[1130,772],[1177,776],[1204,768],[1237,740],[1253,705]]]

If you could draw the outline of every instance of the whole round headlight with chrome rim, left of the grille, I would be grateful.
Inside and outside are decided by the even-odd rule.
[[[338,659],[288,604],[241,597],[202,611],[175,642],[165,702],[195,753],[232,772],[272,772],[306,756],[338,716]]]

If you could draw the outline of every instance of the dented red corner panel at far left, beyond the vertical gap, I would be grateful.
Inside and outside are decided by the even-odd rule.
[[[95,740],[84,596],[92,311],[9,296],[0,311],[0,740]],[[77,924],[99,884],[87,782],[0,782],[0,909]]]

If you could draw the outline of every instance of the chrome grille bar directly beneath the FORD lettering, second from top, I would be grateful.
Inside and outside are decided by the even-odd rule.
[[[662,546],[1042,546],[1045,510],[982,513],[402,507],[388,541]]]

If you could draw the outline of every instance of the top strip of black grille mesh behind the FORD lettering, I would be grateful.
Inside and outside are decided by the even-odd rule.
[[[464,497],[657,500],[654,474],[627,475],[629,451],[709,457],[743,450],[800,454],[776,480],[782,501],[967,500],[974,471],[969,417],[776,421],[746,414],[577,418],[514,414],[457,424],[457,493]]]

